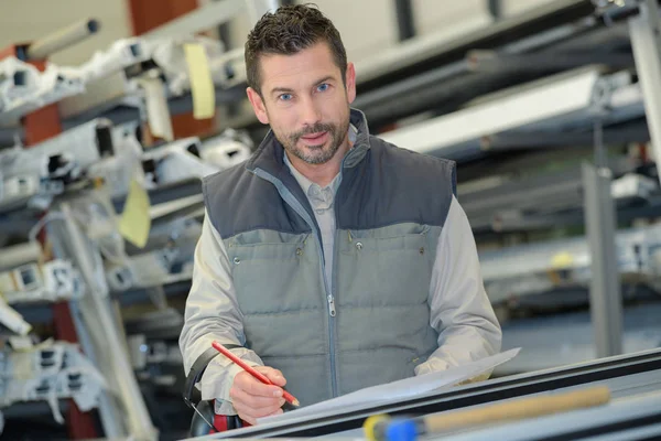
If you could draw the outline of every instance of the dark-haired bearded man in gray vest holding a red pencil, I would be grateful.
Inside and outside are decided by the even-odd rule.
[[[371,137],[356,73],[317,9],[266,14],[246,43],[248,98],[271,131],[204,180],[206,217],[180,344],[218,413],[282,412],[500,351],[455,165]],[[280,386],[280,387],[279,387]]]

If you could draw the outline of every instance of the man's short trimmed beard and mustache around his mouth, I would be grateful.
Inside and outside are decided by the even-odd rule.
[[[321,146],[300,147],[299,141],[302,137],[324,131],[329,136],[329,139],[326,141],[326,143]],[[313,126],[307,126],[303,130],[295,133],[278,137],[278,140],[288,152],[292,153],[302,161],[305,161],[308,164],[323,164],[335,157],[335,153],[337,153],[337,150],[339,150],[345,137],[348,135],[348,131],[349,119],[347,118],[346,122],[343,122],[342,126],[330,122],[317,122]]]

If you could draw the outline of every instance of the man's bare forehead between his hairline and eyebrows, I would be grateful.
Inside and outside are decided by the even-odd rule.
[[[317,43],[293,55],[269,54],[260,60],[262,89],[305,87],[323,77],[336,77],[340,72],[326,43]]]

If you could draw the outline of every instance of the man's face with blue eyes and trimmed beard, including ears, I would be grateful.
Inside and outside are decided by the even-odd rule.
[[[347,66],[345,86],[328,45],[318,43],[294,55],[262,56],[260,74],[261,96],[248,89],[259,120],[302,161],[329,161],[347,142],[354,66]]]

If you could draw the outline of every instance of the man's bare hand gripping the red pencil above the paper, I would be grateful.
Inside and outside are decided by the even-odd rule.
[[[282,387],[286,384],[286,379],[278,369],[268,366],[254,366],[254,368],[277,386],[264,385],[242,370],[237,374],[229,389],[234,408],[239,417],[250,424],[256,424],[257,418],[282,413],[281,408],[284,405]]]

